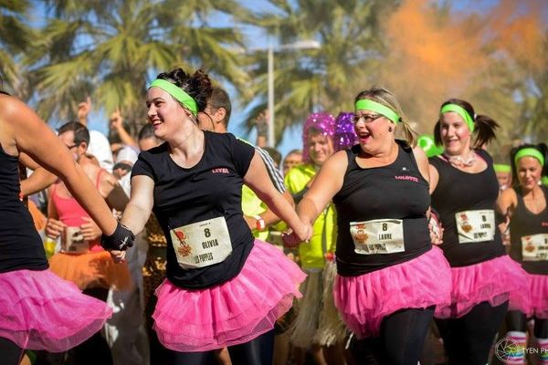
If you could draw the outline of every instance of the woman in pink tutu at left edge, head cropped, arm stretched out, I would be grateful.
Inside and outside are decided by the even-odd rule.
[[[132,245],[67,147],[23,102],[0,94],[0,359],[18,364],[24,349],[62,352],[90,338],[111,308],[48,270],[42,240],[19,199],[19,156],[55,172],[99,224],[111,247]]]

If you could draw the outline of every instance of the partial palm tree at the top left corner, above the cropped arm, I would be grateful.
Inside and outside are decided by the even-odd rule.
[[[24,85],[19,58],[33,38],[32,29],[26,25],[28,10],[26,0],[0,0],[0,76],[16,95],[22,93]]]

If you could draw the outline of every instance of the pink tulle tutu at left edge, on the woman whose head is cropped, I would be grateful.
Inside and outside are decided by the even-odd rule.
[[[0,274],[0,337],[63,352],[98,332],[112,309],[49,270]]]

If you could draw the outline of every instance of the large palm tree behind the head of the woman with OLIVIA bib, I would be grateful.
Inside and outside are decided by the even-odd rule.
[[[120,107],[134,131],[143,123],[146,86],[159,71],[202,67],[241,85],[245,75],[229,50],[241,36],[207,24],[207,16],[226,11],[226,4],[238,8],[214,0],[47,1],[51,17],[28,54],[38,111],[46,118],[73,117],[89,95],[107,112]]]

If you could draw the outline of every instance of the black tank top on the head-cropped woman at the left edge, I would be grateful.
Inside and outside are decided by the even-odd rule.
[[[32,217],[19,200],[18,159],[0,145],[0,272],[47,269]]]

